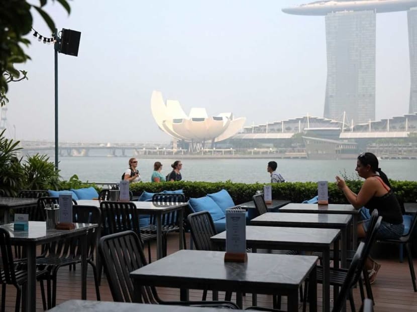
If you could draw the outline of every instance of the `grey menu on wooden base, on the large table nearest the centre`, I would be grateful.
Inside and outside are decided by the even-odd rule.
[[[246,214],[240,207],[226,209],[225,262],[247,262]]]

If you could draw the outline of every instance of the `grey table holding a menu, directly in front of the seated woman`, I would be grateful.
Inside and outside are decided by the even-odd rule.
[[[318,205],[318,204],[296,204],[291,203],[279,208],[279,212],[294,212],[294,213],[327,213],[327,214],[341,214],[341,215],[352,215],[352,248],[356,249],[358,240],[358,216],[360,213],[359,209],[356,209],[350,204],[329,204],[329,205]]]

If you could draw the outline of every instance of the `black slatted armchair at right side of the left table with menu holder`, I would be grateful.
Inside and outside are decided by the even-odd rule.
[[[97,300],[100,300],[100,290],[98,287],[98,274],[93,262],[94,250],[97,243],[97,237],[101,228],[100,209],[95,206],[74,205],[72,207],[72,220],[76,223],[96,223],[97,228],[89,230],[86,238],[87,263],[93,270],[95,293]],[[52,298],[48,293],[48,308],[56,305],[56,285],[59,268],[63,266],[72,266],[81,263],[81,248],[79,248],[79,238],[68,238],[48,246],[47,253],[43,257],[36,259],[36,264],[40,268],[46,268],[49,271],[52,280]]]

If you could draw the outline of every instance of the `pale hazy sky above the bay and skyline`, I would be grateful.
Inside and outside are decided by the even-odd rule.
[[[323,116],[324,17],[281,9],[308,1],[119,0],[46,7],[58,29],[81,32],[78,57],[59,55],[62,141],[169,141],[150,109],[153,90],[186,113],[233,112],[246,125]],[[33,13],[33,27],[50,36]],[[54,51],[28,36],[28,81],[11,84],[8,126],[18,139],[54,139]],[[376,118],[408,112],[406,12],[377,15]],[[13,132],[13,130],[11,131]],[[12,134],[10,134],[12,135]]]

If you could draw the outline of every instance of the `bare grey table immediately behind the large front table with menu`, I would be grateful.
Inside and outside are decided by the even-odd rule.
[[[211,237],[224,247],[226,231]],[[334,246],[334,267],[339,267],[340,230],[272,226],[246,226],[246,246],[297,251],[320,251],[323,254],[323,310],[330,311],[330,248]],[[273,255],[277,256],[277,255]],[[278,259],[276,260],[279,263]],[[338,293],[337,287],[334,288]]]

